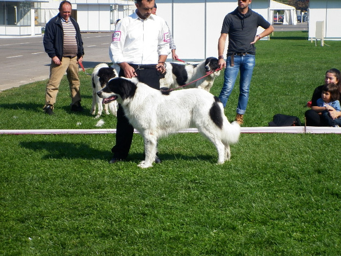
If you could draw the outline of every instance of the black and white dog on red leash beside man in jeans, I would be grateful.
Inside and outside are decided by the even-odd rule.
[[[214,79],[220,75],[220,70],[213,72],[205,78],[202,77],[218,68],[218,59],[214,57],[208,57],[198,64],[184,65],[168,62],[166,63],[166,73],[160,77],[160,88],[176,88],[199,79],[186,85],[184,88],[201,88],[209,92],[213,86]]]

